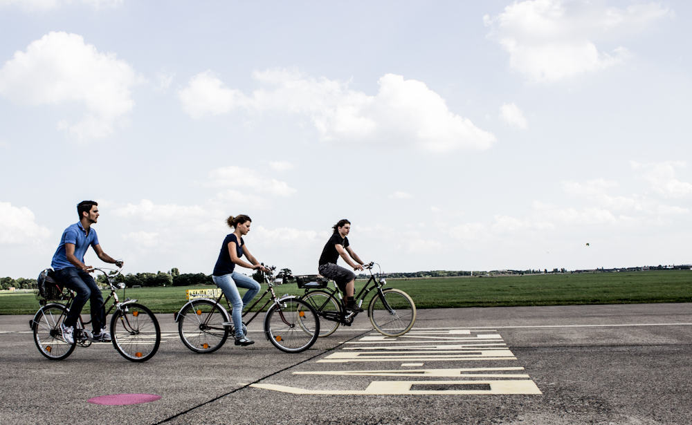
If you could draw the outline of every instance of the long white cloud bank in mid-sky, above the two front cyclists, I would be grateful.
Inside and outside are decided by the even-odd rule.
[[[239,109],[303,115],[327,142],[413,145],[432,151],[488,149],[495,142],[492,133],[449,111],[424,82],[401,75],[383,75],[374,96],[353,91],[346,82],[289,70],[266,70],[253,77],[260,88],[245,95],[206,71],[190,79],[179,99],[194,118]]]

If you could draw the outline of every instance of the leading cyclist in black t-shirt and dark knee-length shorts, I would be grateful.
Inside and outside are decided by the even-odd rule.
[[[322,249],[320,256],[320,265],[318,271],[322,276],[330,278],[336,282],[339,289],[346,294],[346,308],[354,312],[362,312],[356,301],[354,300],[354,292],[356,292],[356,274],[351,270],[336,265],[339,256],[353,267],[353,270],[363,270],[365,264],[361,258],[349,246],[348,238],[346,237],[351,231],[351,222],[339,220],[334,227],[334,234],[327,240],[327,244]]]

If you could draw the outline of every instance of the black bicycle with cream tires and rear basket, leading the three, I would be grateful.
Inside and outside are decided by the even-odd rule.
[[[379,269],[376,274],[372,273],[374,265]],[[416,321],[416,305],[411,297],[402,290],[383,289],[387,281],[380,277],[382,269],[379,264],[370,263],[363,268],[370,272],[370,278],[355,299],[361,307],[367,294],[376,290],[367,305],[367,316],[372,326],[387,337],[399,337],[411,330]],[[331,289],[327,287],[329,280],[316,274],[295,276],[295,280],[298,288],[305,290],[300,299],[311,305],[320,317],[320,337],[333,334],[339,325],[350,326],[353,323],[358,312],[346,309],[336,282],[332,281],[334,289]]]

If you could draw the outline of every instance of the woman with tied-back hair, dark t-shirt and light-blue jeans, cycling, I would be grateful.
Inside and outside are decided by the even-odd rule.
[[[214,272],[212,273],[212,280],[224,291],[224,295],[233,305],[231,317],[233,317],[233,326],[235,327],[235,345],[249,346],[255,343],[255,341],[246,337],[243,332],[242,311],[243,307],[248,305],[251,299],[257,295],[257,292],[260,292],[260,284],[255,282],[254,279],[236,272],[234,269],[237,264],[248,269],[260,269],[262,272],[268,272],[268,270],[257,261],[253,254],[250,254],[247,245],[245,245],[243,236],[250,232],[252,223],[250,217],[245,214],[235,217],[230,216],[226,223],[234,230],[233,233],[226,235],[224,243],[221,243],[219,258],[217,258]],[[243,261],[243,254],[245,254],[250,263]],[[240,292],[238,292],[239,287],[247,289],[242,298],[240,297]]]

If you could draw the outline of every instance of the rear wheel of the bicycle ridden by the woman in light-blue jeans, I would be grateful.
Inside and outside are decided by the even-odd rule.
[[[230,328],[221,324],[228,321],[228,312],[214,301],[190,301],[179,313],[178,334],[185,347],[194,352],[215,352],[228,339]]]

